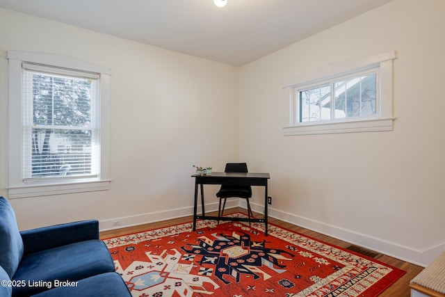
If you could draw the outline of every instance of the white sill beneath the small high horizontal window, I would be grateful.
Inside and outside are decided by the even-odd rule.
[[[367,120],[350,120],[348,122],[311,122],[298,126],[283,127],[284,136],[354,133],[369,131],[391,131],[394,118],[372,118]]]

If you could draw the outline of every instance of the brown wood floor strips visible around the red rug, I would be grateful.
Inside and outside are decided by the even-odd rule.
[[[245,213],[245,209],[242,208],[233,208],[233,209],[227,209],[225,211],[225,214],[231,214],[237,211],[241,211]],[[215,213],[209,213],[210,216],[215,216],[217,214]],[[255,214],[257,218],[261,218],[261,214]],[[100,232],[100,238],[106,239],[110,237],[120,236],[124,234],[131,234],[131,233],[137,233],[137,232],[143,232],[145,230],[151,230],[156,229],[159,227],[165,227],[180,223],[187,223],[191,222],[193,220],[193,216],[185,216],[183,218],[175,218],[172,220],[165,220],[161,222],[156,223],[149,223],[144,225],[138,225],[133,227],[124,227],[116,230],[108,230]],[[276,218],[269,218],[269,223],[274,223],[275,225],[279,225],[280,227],[284,227],[286,229],[314,237],[315,239],[325,241],[327,243],[331,243],[335,246],[339,246],[341,248],[347,248],[350,246],[350,243],[346,241],[341,241],[339,239],[334,239],[330,236],[326,236],[311,230],[307,230],[302,227],[298,227],[296,225],[292,225],[291,223],[283,222],[282,220],[277,220]],[[394,284],[391,285],[386,291],[384,291],[382,294],[380,294],[380,297],[410,297],[410,280],[412,280],[417,274],[419,274],[423,267],[417,266],[408,262],[404,262],[400,259],[396,259],[393,257],[389,257],[387,255],[381,255],[377,258],[378,261],[384,262],[386,264],[389,264],[391,266],[401,268],[404,271],[406,271],[405,275],[403,275],[402,278],[398,279]]]

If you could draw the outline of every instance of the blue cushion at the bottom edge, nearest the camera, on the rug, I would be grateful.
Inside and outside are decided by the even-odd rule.
[[[102,273],[72,284],[56,287],[44,291],[33,297],[131,297],[130,291],[122,280],[121,276],[115,272]]]

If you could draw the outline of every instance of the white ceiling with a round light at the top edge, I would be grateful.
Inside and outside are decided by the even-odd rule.
[[[241,66],[391,0],[0,0],[0,7]],[[378,20],[376,20],[378,21]]]

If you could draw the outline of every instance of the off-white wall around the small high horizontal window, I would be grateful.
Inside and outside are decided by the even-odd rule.
[[[270,172],[272,216],[422,265],[445,249],[444,11],[394,0],[241,67],[240,159]],[[283,135],[284,81],[391,50],[394,131]]]

